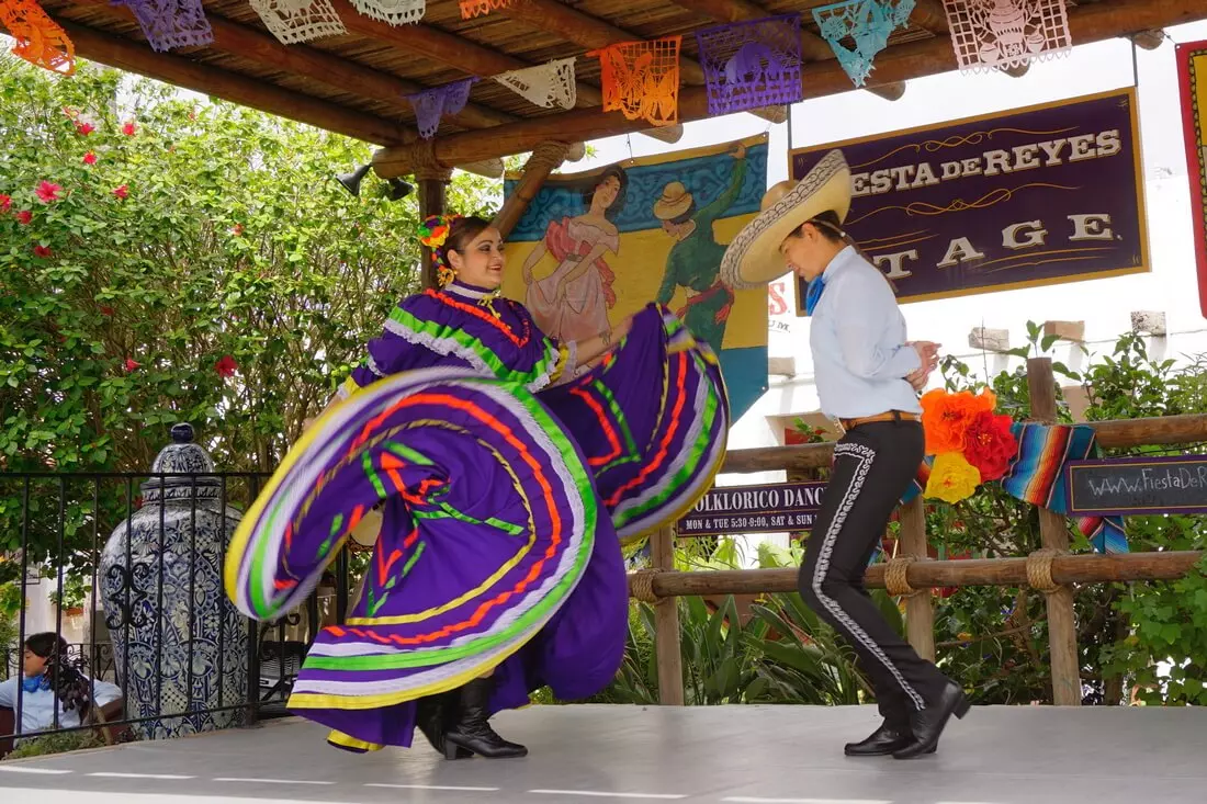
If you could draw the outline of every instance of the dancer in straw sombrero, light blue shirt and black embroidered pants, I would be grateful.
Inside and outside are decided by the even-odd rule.
[[[939,344],[905,340],[892,286],[842,231],[851,174],[832,151],[794,187],[776,185],[763,211],[722,262],[731,287],[771,281],[785,263],[807,280],[810,349],[822,412],[844,436],[800,567],[800,594],[842,634],[876,693],[884,724],[846,746],[849,756],[932,753],[963,689],[888,625],[863,572],[925,453],[917,391],[938,365]]]

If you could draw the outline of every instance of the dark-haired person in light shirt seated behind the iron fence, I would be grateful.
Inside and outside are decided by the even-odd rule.
[[[22,677],[0,681],[0,706],[8,709],[17,709],[17,687],[24,687],[17,734],[53,729],[56,704],[59,728],[121,716],[121,688],[82,674],[68,659],[66,640],[57,634],[34,634],[25,640],[23,669]]]

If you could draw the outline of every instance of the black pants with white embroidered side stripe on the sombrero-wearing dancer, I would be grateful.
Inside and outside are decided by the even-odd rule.
[[[903,641],[863,587],[863,572],[888,518],[923,458],[922,425],[876,421],[834,447],[834,467],[800,566],[800,595],[851,643],[876,693],[880,713],[908,726],[946,677]]]

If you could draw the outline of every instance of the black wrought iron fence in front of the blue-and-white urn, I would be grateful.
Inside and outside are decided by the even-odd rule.
[[[101,722],[112,741],[250,726],[285,712],[317,630],[344,619],[349,565],[342,553],[305,604],[272,623],[238,613],[226,596],[223,559],[266,479],[252,472],[0,473],[0,549],[7,550],[0,555],[0,756],[14,739]],[[82,723],[62,704],[31,698],[52,691],[22,683],[23,646],[39,633],[62,639],[70,666],[87,681],[94,705]]]

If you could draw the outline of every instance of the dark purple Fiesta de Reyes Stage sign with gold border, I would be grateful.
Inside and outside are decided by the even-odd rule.
[[[832,148],[902,302],[1149,270],[1135,88],[793,150],[792,175]]]

